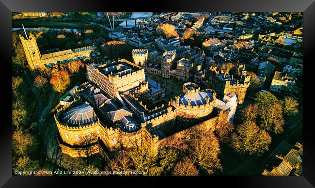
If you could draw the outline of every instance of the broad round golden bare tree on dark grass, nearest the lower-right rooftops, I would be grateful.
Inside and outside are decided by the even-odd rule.
[[[268,150],[271,137],[254,122],[245,121],[236,127],[232,135],[231,146],[241,154],[261,154]]]

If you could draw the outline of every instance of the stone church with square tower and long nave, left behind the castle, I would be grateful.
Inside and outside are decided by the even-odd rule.
[[[36,73],[40,70],[64,69],[64,64],[73,61],[86,61],[91,58],[97,58],[100,53],[97,52],[97,47],[88,46],[77,49],[67,49],[48,54],[41,54],[36,43],[35,36],[30,33],[25,39],[19,34],[25,56],[31,73]]]

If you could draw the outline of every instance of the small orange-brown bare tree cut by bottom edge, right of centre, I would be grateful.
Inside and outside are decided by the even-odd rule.
[[[176,163],[172,175],[196,176],[198,175],[198,170],[189,157],[184,157],[183,160]]]

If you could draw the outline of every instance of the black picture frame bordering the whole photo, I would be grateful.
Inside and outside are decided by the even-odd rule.
[[[210,177],[92,177],[93,182],[97,181],[101,185],[109,182],[112,186],[122,187],[152,187],[161,183],[164,186],[174,186],[187,183],[207,184],[215,186],[218,182],[223,187],[277,187],[277,188],[310,188],[315,186],[315,139],[314,123],[312,122],[314,102],[314,78],[311,78],[313,54],[315,49],[315,2],[314,0],[193,0],[193,1],[114,1],[114,0],[0,0],[0,55],[1,55],[1,85],[2,85],[2,113],[0,131],[0,186],[12,187],[56,187],[66,184],[74,187],[82,185],[82,178],[75,177],[21,177],[12,176],[12,123],[11,123],[11,82],[12,79],[12,59],[11,59],[11,32],[12,32],[12,12],[107,12],[107,11],[189,11],[189,12],[303,12],[303,177],[275,177],[275,176],[210,176]],[[310,78],[308,78],[310,77]],[[308,110],[310,108],[310,110]],[[88,177],[84,177],[87,180]],[[154,181],[152,180],[154,179]],[[170,180],[166,183],[165,179]],[[145,183],[142,183],[145,182]],[[204,185],[204,186],[205,186]],[[104,186],[102,186],[104,187]],[[208,186],[207,186],[208,187]]]

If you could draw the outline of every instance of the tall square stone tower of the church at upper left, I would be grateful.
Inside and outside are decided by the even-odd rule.
[[[42,56],[37,47],[35,36],[30,33],[30,36],[27,39],[25,39],[21,34],[19,35],[19,37],[24,48],[27,63],[29,64],[31,71],[44,68],[44,65],[42,63]]]

